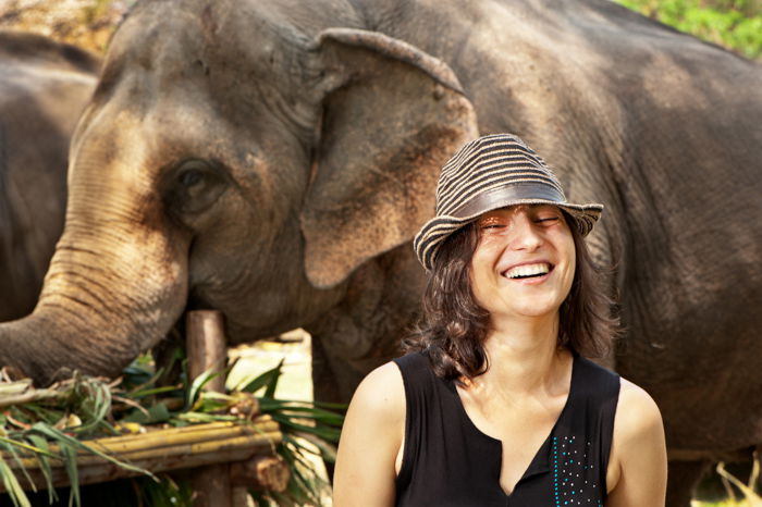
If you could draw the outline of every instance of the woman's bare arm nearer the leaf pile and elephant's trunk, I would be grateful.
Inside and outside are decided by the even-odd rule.
[[[349,404],[336,456],[334,507],[394,505],[395,459],[405,434],[405,387],[389,362],[368,374]]]

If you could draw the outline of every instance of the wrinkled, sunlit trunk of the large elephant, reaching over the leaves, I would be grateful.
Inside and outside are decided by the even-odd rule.
[[[0,366],[38,385],[61,369],[118,375],[185,307],[189,237],[150,182],[124,177],[134,165],[94,165],[72,164],[66,225],[35,310],[0,324]]]

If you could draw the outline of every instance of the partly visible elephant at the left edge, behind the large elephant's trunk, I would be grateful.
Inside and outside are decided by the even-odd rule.
[[[98,60],[0,30],[0,322],[32,312],[63,230],[69,140]]]

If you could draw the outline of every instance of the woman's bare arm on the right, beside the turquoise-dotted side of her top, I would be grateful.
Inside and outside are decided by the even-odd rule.
[[[646,391],[624,379],[611,457],[606,507],[664,506],[667,460],[662,416]]]

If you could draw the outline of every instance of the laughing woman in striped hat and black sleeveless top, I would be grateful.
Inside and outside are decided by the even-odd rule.
[[[353,397],[336,507],[664,505],[659,409],[580,356],[614,333],[582,239],[602,209],[511,135],[445,164],[414,242],[422,324]]]

